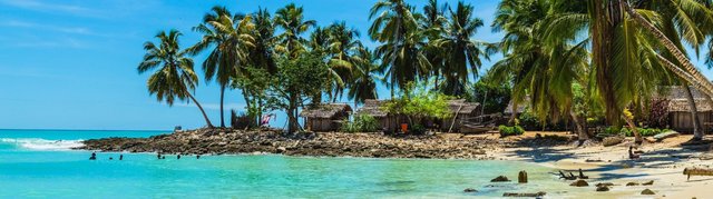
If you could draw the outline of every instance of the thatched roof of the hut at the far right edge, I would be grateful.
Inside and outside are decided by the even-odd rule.
[[[709,102],[703,93],[696,90],[693,87],[691,88],[691,93],[693,94],[693,100],[695,101],[695,107],[697,111],[713,111],[713,107],[711,102]],[[663,98],[668,100],[668,111],[670,112],[690,112],[691,106],[688,105],[688,99],[686,97],[686,90],[682,86],[670,86],[670,87],[661,87],[658,92],[655,94],[657,98]]]

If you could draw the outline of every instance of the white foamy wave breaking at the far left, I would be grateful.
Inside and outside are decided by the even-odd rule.
[[[0,138],[0,143],[31,150],[70,150],[84,146],[84,140],[46,140],[41,138]]]

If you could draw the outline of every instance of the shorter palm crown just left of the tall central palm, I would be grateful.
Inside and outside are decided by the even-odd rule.
[[[355,67],[352,80],[346,83],[349,92],[346,97],[354,100],[354,108],[364,103],[367,99],[377,99],[378,58],[367,48],[360,48],[355,53]]]

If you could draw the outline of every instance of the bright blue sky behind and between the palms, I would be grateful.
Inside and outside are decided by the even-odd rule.
[[[486,24],[473,39],[498,41],[502,34],[489,27],[498,0],[463,1],[475,6],[476,17]],[[191,28],[214,6],[250,13],[260,7],[274,12],[291,2],[304,7],[305,18],[319,26],[345,21],[361,32],[365,46],[378,46],[367,36],[369,9],[377,0],[0,0],[0,129],[202,127],[205,122],[193,103],[168,107],[149,96],[149,74],[136,71],[145,53],[143,43],[155,41],[158,31],[177,29],[184,33],[182,47],[189,47],[201,39]],[[427,0],[408,2],[421,10]],[[500,58],[484,61],[482,69]],[[201,77],[204,59],[205,54],[194,58]],[[710,70],[703,71],[711,77]],[[201,80],[195,96],[213,123],[219,125],[219,88]],[[388,97],[389,91],[380,86],[379,96]],[[226,92],[225,107],[229,123],[228,110],[244,108],[238,91]],[[284,115],[279,113],[271,126],[284,127]]]

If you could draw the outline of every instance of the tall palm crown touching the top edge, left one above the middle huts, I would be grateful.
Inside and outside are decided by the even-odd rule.
[[[381,0],[371,8],[369,16],[373,19],[370,37],[383,43],[375,53],[382,58],[380,70],[389,78],[392,97],[395,86],[406,88],[408,82],[424,79],[430,73],[431,63],[422,51],[427,38],[418,30],[418,17],[412,10],[403,0]]]

